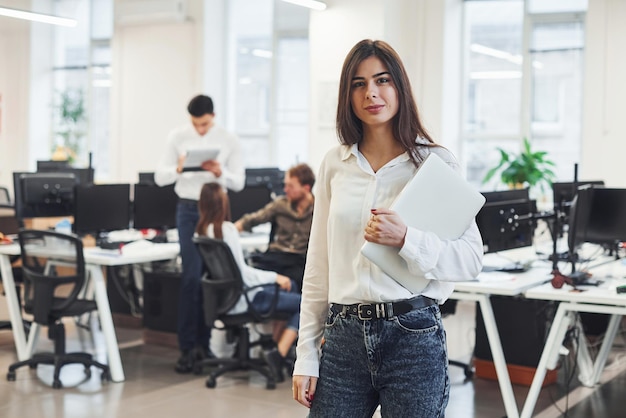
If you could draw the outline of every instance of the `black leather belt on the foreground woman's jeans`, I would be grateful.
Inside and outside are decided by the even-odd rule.
[[[338,315],[352,315],[361,320],[368,321],[376,318],[391,319],[414,309],[425,308],[426,306],[431,306],[435,303],[437,302],[434,299],[420,295],[411,299],[396,302],[354,303],[352,305],[332,303],[330,305],[330,310]]]

